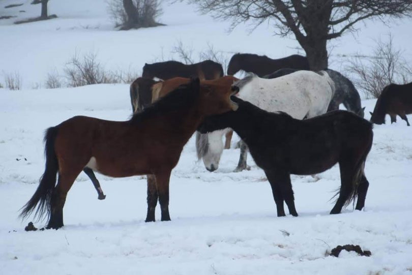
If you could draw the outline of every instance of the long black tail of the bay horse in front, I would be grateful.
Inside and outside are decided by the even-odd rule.
[[[58,133],[58,126],[47,129],[44,136],[46,156],[46,168],[43,176],[40,178],[40,184],[33,194],[32,198],[22,207],[20,218],[25,219],[30,215],[35,207],[37,210],[35,217],[41,219],[45,214],[50,216],[51,197],[56,184],[56,174],[58,171],[58,162],[56,152],[54,150],[54,142]],[[43,217],[44,218],[44,217]]]

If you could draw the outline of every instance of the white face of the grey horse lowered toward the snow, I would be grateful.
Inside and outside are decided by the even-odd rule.
[[[214,171],[219,168],[220,156],[224,149],[222,137],[228,131],[228,129],[223,129],[208,134],[208,152],[203,156],[203,163],[209,171]]]

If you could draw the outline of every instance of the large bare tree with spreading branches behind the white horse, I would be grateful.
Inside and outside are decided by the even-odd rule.
[[[187,0],[203,13],[231,20],[231,29],[251,22],[257,27],[270,20],[275,34],[295,35],[312,70],[328,67],[327,41],[354,30],[367,18],[384,19],[412,14],[411,0]]]

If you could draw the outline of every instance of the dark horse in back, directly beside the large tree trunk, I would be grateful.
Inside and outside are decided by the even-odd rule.
[[[263,77],[283,68],[309,70],[308,58],[299,54],[293,54],[284,58],[272,59],[266,55],[237,53],[230,58],[227,74],[234,75],[242,70]]]

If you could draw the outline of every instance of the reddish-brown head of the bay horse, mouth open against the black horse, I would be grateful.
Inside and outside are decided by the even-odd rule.
[[[226,84],[207,83],[200,85],[199,80],[199,111],[202,115],[221,114],[228,111],[236,111],[238,104],[234,103],[230,96],[239,92],[238,87]],[[192,84],[193,85],[193,84]]]

